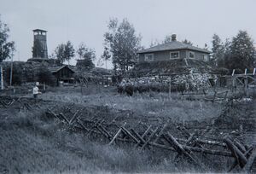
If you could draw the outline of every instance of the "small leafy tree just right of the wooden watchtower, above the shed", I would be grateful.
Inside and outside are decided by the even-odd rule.
[[[73,44],[67,41],[67,44],[59,44],[55,49],[55,55],[61,63],[64,61],[70,61],[75,55],[75,49],[73,49]]]

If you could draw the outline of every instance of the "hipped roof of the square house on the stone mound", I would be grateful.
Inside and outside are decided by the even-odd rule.
[[[172,41],[166,44],[159,44],[149,49],[143,49],[141,51],[138,51],[137,53],[140,54],[140,53],[150,53],[150,52],[158,52],[158,51],[165,51],[165,50],[177,50],[177,49],[191,49],[191,50],[196,50],[196,51],[200,51],[208,54],[211,53],[207,49],[201,49],[201,48],[192,46],[190,44],[184,44],[178,41]]]

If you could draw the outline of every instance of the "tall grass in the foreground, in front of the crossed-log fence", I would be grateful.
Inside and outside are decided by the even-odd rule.
[[[156,151],[150,154],[129,145],[91,142],[83,133],[67,131],[66,125],[45,122],[43,117],[39,112],[15,113],[1,120],[1,170],[9,173],[183,171],[172,165],[173,155],[160,155]]]

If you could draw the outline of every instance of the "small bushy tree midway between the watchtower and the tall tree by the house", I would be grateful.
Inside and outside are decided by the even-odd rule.
[[[94,49],[88,48],[84,43],[79,45],[79,49],[77,50],[80,60],[77,62],[77,66],[79,68],[87,68],[91,69],[95,67],[93,61],[96,59],[96,54]]]

